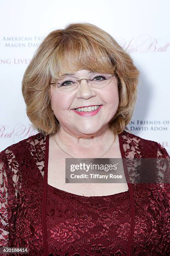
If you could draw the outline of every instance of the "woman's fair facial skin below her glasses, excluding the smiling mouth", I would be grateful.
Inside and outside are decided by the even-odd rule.
[[[74,76],[78,79],[88,78],[86,69],[78,70]],[[87,80],[80,81],[79,87],[72,91],[61,91],[50,87],[51,107],[60,126],[70,134],[93,134],[100,131],[115,115],[118,104],[118,82],[112,77],[110,84],[102,88],[90,87]],[[102,105],[95,115],[80,115],[73,110],[82,106]]]

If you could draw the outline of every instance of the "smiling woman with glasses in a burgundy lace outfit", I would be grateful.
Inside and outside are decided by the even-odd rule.
[[[22,82],[39,133],[0,153],[1,246],[45,256],[170,252],[169,184],[133,184],[125,165],[126,183],[65,183],[67,158],[169,159],[159,143],[125,131],[138,77],[115,39],[90,23],[44,39]]]

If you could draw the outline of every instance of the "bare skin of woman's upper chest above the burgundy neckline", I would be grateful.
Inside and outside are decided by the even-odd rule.
[[[128,191],[127,183],[65,183],[66,158],[67,156],[59,150],[49,150],[47,183],[52,187],[83,196],[113,195]],[[103,158],[121,159],[120,149],[110,151]]]

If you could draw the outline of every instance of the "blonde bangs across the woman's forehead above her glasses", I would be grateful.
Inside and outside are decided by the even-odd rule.
[[[109,54],[94,41],[87,38],[66,38],[62,40],[52,53],[50,74],[57,79],[62,74],[75,73],[81,69],[113,74],[115,66]]]

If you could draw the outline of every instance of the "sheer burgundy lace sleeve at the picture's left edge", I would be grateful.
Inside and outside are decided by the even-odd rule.
[[[0,247],[13,247],[19,195],[18,170],[13,151],[5,149],[0,152]]]

